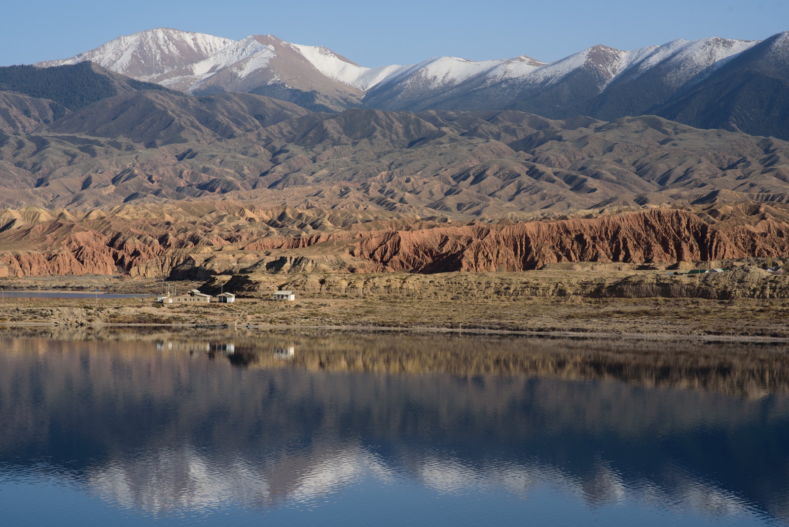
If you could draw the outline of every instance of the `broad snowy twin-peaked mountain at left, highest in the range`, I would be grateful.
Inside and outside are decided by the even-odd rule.
[[[391,68],[362,68],[323,47],[271,35],[241,40],[157,28],[122,36],[76,57],[39,66],[92,61],[184,92],[253,92],[317,110],[358,106],[362,89]]]

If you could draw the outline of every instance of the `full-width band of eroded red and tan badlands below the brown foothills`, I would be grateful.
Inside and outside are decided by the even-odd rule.
[[[208,279],[237,273],[432,274],[529,271],[562,262],[668,264],[789,254],[789,218],[783,209],[764,205],[725,214],[722,209],[661,208],[589,219],[460,226],[414,221],[409,227],[398,219],[371,230],[362,230],[361,222],[324,224],[321,233],[309,227],[304,215],[265,215],[233,204],[193,207],[125,206],[80,215],[3,212],[0,275],[125,272]],[[325,217],[315,212],[312,223]]]

